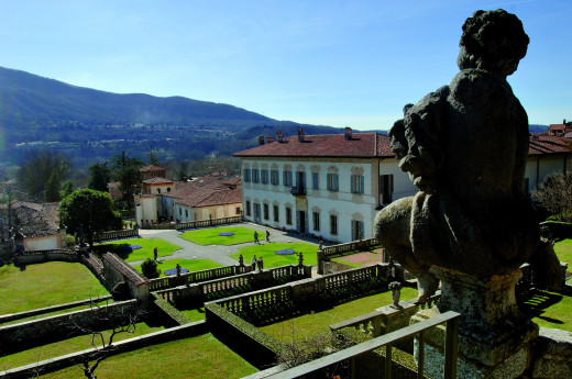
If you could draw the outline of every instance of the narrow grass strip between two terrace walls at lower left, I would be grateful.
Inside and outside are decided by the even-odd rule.
[[[164,327],[152,327],[145,323],[136,324],[134,333],[120,333],[113,337],[113,341],[118,342],[121,339],[136,337],[139,335],[148,334],[152,332],[157,332],[163,330]],[[110,332],[105,332],[106,343],[109,341]],[[100,345],[99,343],[97,344]],[[52,344],[46,344],[43,346],[37,346],[30,348],[24,352],[11,354],[8,356],[0,357],[0,370],[20,367],[29,364],[34,364],[40,360],[58,357],[61,355],[70,354],[74,352],[80,352],[88,348],[94,347],[91,345],[91,334],[89,335],[80,335],[77,337],[55,342]],[[77,369],[77,368],[76,368]],[[78,369],[78,372],[81,370]]]

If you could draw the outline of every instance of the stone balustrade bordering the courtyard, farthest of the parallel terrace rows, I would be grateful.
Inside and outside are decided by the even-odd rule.
[[[160,291],[188,283],[197,283],[200,281],[215,280],[219,278],[231,277],[234,275],[246,274],[252,271],[252,266],[224,266],[210,268],[208,270],[193,271],[182,274],[180,276],[170,276],[164,278],[155,278],[150,280],[150,291]]]

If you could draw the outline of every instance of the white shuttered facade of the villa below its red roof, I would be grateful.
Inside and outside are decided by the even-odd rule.
[[[393,190],[386,203],[417,191],[395,159],[241,159],[244,219],[332,242],[373,236],[373,220],[384,203],[380,192],[384,187]],[[292,172],[292,183],[285,185],[285,172]],[[391,187],[381,183],[384,175],[392,176]],[[301,186],[304,194],[292,193],[293,187]]]

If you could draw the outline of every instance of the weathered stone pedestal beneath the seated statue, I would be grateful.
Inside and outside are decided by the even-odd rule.
[[[474,278],[431,269],[441,280],[437,308],[419,311],[411,323],[440,312],[462,314],[459,324],[459,378],[518,378],[529,367],[530,344],[538,326],[522,315],[515,298],[520,271]],[[443,376],[444,326],[425,333],[426,375]],[[419,354],[416,342],[416,356]]]

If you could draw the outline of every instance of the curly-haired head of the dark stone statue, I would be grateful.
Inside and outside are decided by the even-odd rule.
[[[529,43],[518,18],[502,9],[476,11],[466,19],[459,46],[459,68],[479,68],[508,76],[516,71]]]

